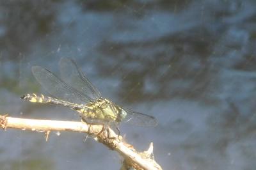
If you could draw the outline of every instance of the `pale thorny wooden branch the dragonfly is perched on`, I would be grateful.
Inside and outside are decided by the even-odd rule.
[[[45,132],[46,140],[52,130],[86,132],[92,135],[96,141],[103,143],[124,157],[122,169],[128,169],[129,167],[134,167],[134,169],[161,169],[161,166],[152,158],[152,143],[147,151],[140,153],[132,145],[125,143],[122,136],[115,134],[109,127],[100,133],[103,128],[102,125],[91,125],[81,121],[32,120],[0,115],[0,126],[4,130],[7,128],[19,128],[21,130]]]

